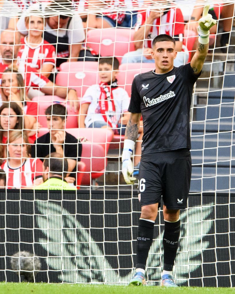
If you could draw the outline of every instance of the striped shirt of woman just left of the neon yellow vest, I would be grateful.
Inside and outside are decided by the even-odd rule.
[[[22,159],[22,162],[24,159]],[[6,173],[6,188],[24,188],[33,186],[36,177],[42,177],[42,161],[38,158],[26,158],[19,168],[11,168],[6,161],[1,168]]]

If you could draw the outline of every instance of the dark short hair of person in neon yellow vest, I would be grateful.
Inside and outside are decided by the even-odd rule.
[[[68,173],[68,161],[63,157],[62,154],[57,152],[52,152],[48,154],[43,161],[43,166],[45,168],[49,167],[49,173],[59,174],[61,176],[66,176]]]

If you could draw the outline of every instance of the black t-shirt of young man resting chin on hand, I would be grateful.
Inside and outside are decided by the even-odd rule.
[[[65,142],[62,144],[62,148],[64,150],[64,157],[68,159],[74,159],[76,161],[80,161],[81,153],[82,153],[82,144],[78,143],[78,139],[76,139],[71,134],[66,133]],[[51,143],[50,133],[46,133],[45,135],[39,137],[34,144],[31,146],[31,157],[39,158],[41,161],[44,161],[45,157],[52,153],[56,152],[56,148]],[[73,169],[72,173],[70,173],[70,177],[76,178],[75,172],[77,171],[77,166]]]

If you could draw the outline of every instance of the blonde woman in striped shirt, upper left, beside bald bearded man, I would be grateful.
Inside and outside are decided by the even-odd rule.
[[[21,40],[23,45],[18,53],[19,62],[48,77],[56,63],[56,52],[54,46],[42,38],[44,18],[36,15],[26,16],[25,26],[28,36]]]

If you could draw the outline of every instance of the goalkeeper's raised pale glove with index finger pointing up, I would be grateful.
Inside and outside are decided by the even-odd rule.
[[[210,5],[205,5],[202,12],[202,17],[199,19],[198,24],[198,41],[200,44],[209,43],[209,30],[216,24],[216,20],[212,18],[212,15],[208,13]]]

